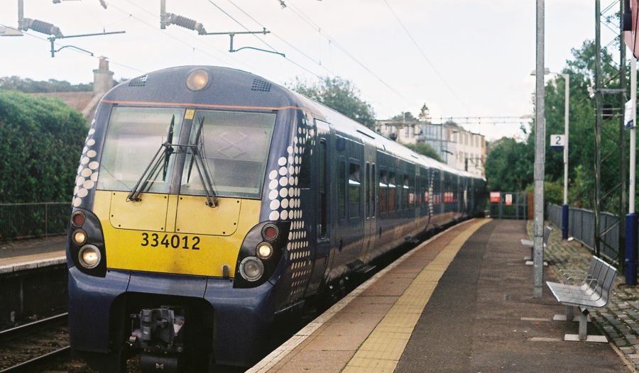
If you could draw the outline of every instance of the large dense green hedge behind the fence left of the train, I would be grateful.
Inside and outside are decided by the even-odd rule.
[[[67,104],[0,89],[0,203],[70,201],[86,135]]]

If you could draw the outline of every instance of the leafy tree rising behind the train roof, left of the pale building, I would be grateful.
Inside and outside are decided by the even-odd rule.
[[[339,111],[368,128],[375,127],[375,113],[371,104],[359,98],[359,89],[350,80],[324,77],[316,84],[310,84],[296,78],[295,82],[286,86],[309,99]]]

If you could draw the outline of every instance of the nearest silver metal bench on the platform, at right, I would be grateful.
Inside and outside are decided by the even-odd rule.
[[[574,282],[579,272],[562,272],[567,276],[568,282]],[[588,328],[588,308],[601,308],[608,304],[610,290],[612,289],[617,269],[598,257],[592,257],[588,272],[581,272],[580,284],[559,284],[557,282],[546,282],[552,295],[560,304],[568,308],[567,320],[570,320],[572,307],[579,307],[579,335],[567,334],[564,340],[585,340],[587,342],[607,343],[608,340],[603,335],[587,335]]]

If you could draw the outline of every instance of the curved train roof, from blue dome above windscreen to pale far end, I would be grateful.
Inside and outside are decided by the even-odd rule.
[[[187,77],[195,69],[204,69],[209,73],[210,83],[207,89],[197,92],[186,89]],[[139,89],[140,87],[146,89]],[[211,106],[210,103],[215,102],[216,106],[221,107],[259,106],[278,109],[293,106],[306,108],[314,113],[318,119],[331,123],[338,132],[351,138],[358,138],[361,142],[374,143],[378,149],[392,155],[416,162],[424,167],[435,167],[462,177],[482,179],[469,172],[454,169],[430,157],[417,154],[408,147],[376,133],[324,104],[256,74],[239,69],[206,65],[160,69],[118,84],[104,96],[103,100],[164,103],[167,92],[173,94],[173,99],[176,102],[194,106]]]

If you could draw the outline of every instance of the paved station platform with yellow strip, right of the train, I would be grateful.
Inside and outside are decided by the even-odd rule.
[[[439,233],[249,372],[632,372],[613,343],[562,340],[578,323],[552,321],[563,308],[548,289],[532,298],[526,236],[524,221],[489,219]]]

